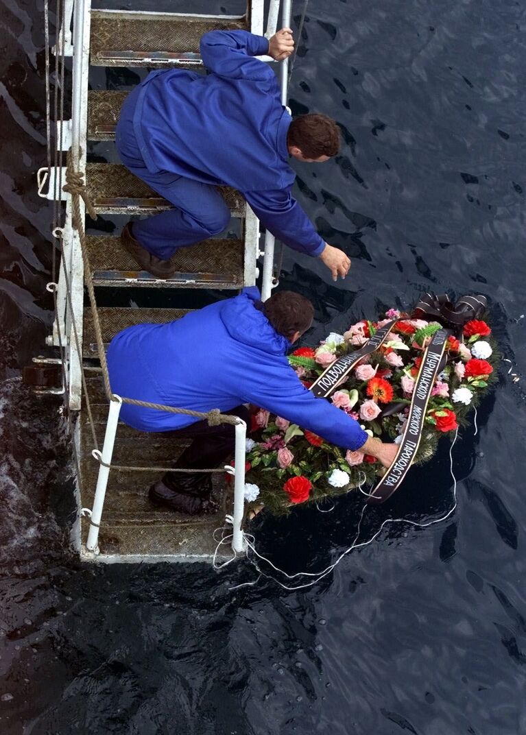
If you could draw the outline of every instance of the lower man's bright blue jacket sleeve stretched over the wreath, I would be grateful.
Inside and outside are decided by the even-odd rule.
[[[297,423],[338,447],[359,449],[369,438],[358,421],[307,390],[288,362],[283,363],[281,370],[276,369],[275,363],[259,365],[257,373],[251,373],[246,390],[249,395],[244,396],[244,402]]]

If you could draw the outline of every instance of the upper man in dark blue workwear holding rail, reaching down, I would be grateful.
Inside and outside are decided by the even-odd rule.
[[[246,31],[212,31],[201,39],[206,76],[154,71],[130,93],[121,111],[116,144],[124,165],[174,204],[129,223],[124,247],[159,278],[174,273],[178,248],[222,232],[230,210],[216,190],[240,190],[277,239],[319,257],[333,279],[350,260],[325,243],[291,196],[295,173],[289,155],[324,162],[338,152],[339,129],[326,115],[292,121],[280,100],[274,71],[255,58],[284,59],[294,49],[291,29],[270,40]]]

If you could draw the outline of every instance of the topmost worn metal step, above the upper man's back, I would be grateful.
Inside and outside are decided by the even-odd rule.
[[[249,30],[245,17],[92,10],[90,62],[94,66],[202,65],[199,39],[213,30]]]

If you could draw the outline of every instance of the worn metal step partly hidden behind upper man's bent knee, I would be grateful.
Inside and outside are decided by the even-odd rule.
[[[155,214],[171,209],[171,204],[118,163],[88,163],[86,188],[95,211],[111,215]],[[232,217],[244,217],[245,200],[227,186],[217,187]]]

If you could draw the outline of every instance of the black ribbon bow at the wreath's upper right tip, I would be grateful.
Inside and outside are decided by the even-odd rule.
[[[472,319],[480,319],[486,312],[488,302],[486,296],[461,296],[453,302],[446,293],[438,296],[426,293],[416,304],[413,319],[438,321],[442,326],[451,329],[457,339],[461,339],[463,326]]]

